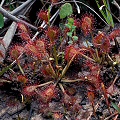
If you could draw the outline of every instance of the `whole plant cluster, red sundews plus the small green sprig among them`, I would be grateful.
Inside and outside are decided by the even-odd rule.
[[[54,4],[56,1],[51,0]],[[14,64],[2,69],[0,75],[4,77],[7,74],[7,79],[20,84],[18,91],[23,96],[22,102],[28,99],[39,101],[40,112],[56,120],[64,119],[66,114],[78,120],[82,109],[79,97],[82,93],[78,90],[81,85],[86,87],[85,96],[91,103],[95,117],[98,95],[104,96],[111,114],[109,96],[114,93],[110,87],[120,65],[116,57],[119,56],[116,37],[120,37],[120,28],[109,33],[96,33],[92,14],[86,13],[76,18],[70,3],[63,4],[61,10],[64,11],[66,6],[70,12],[64,15],[60,12],[60,27],[50,24],[49,9],[38,13],[38,18],[47,27],[39,27],[36,37],[27,25],[17,23],[22,44],[10,48],[9,61],[14,61]],[[116,51],[112,51],[114,47]],[[114,74],[109,79],[109,85],[106,85],[103,76],[105,67]],[[59,109],[56,110],[55,104]]]

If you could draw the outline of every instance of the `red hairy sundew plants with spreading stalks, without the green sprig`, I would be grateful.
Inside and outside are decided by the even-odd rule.
[[[58,0],[51,0],[50,2],[56,3]],[[48,23],[50,17],[48,10],[40,11],[38,17]],[[69,44],[69,40],[74,40],[67,33],[72,28],[59,29],[54,25],[51,27],[47,24],[47,28],[43,29],[43,32],[33,40],[31,38],[33,34],[30,35],[29,28],[22,23],[18,23],[20,37],[26,42],[24,46],[14,45],[10,49],[10,57],[13,60],[20,61],[18,64],[19,69],[18,66],[13,66],[12,72],[16,73],[16,81],[22,84],[20,91],[23,96],[25,98],[35,96],[33,99],[39,101],[40,107],[45,107],[41,110],[43,113],[51,110],[50,104],[55,100],[67,111],[79,113],[82,108],[76,93],[81,82],[86,84],[86,95],[93,109],[96,99],[95,92],[100,92],[101,85],[103,91],[101,94],[105,96],[108,105],[105,80],[103,80],[101,72],[104,65],[105,67],[114,68],[113,64],[109,64],[115,61],[112,61],[109,56],[112,49],[110,42],[111,39],[113,40],[119,36],[120,30],[113,30],[109,35],[105,32],[96,34],[93,31],[95,29],[94,23],[95,19],[91,14],[85,14],[81,20],[74,20],[72,27],[77,29],[72,31],[72,34],[74,38],[78,37],[78,41],[71,44]],[[82,30],[83,34],[78,35],[77,30]],[[92,36],[91,40],[84,40],[89,34],[91,34],[90,37]],[[83,45],[85,41],[88,46]],[[90,46],[88,43],[92,45]],[[22,55],[21,59],[19,59],[20,55]],[[76,63],[80,63],[81,67],[77,66]],[[21,72],[23,75],[21,75]],[[50,82],[50,84],[46,85],[47,82]],[[71,85],[71,82],[74,85]],[[63,88],[64,86],[67,88],[66,91]],[[63,113],[53,111],[54,119],[63,118]]]

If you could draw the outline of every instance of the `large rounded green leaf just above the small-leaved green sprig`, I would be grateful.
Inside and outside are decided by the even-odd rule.
[[[70,3],[65,3],[60,9],[60,19],[63,19],[73,13],[72,6]]]

